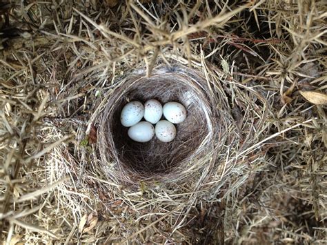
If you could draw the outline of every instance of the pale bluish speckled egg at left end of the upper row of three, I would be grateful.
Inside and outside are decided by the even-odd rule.
[[[144,106],[140,101],[130,101],[121,110],[120,121],[125,127],[130,127],[141,121],[144,115]]]

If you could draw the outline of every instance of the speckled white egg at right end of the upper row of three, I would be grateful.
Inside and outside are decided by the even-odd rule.
[[[173,124],[180,124],[186,119],[186,108],[178,102],[164,104],[164,116]]]

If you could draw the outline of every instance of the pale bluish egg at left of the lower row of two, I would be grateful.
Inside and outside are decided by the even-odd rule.
[[[148,142],[155,135],[155,128],[148,121],[140,121],[128,128],[128,137],[137,142]]]

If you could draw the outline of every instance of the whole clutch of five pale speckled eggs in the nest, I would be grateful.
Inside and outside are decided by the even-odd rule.
[[[175,139],[177,130],[174,124],[180,124],[186,119],[186,108],[178,102],[168,102],[161,106],[156,99],[150,99],[141,104],[130,101],[121,110],[121,124],[128,129],[128,137],[137,142],[148,142],[156,135],[163,142]],[[161,117],[164,115],[166,120]],[[144,117],[146,121],[141,121]],[[156,124],[155,127],[152,124]]]

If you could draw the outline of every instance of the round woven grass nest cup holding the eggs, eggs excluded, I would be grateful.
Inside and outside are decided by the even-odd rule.
[[[132,183],[150,179],[171,182],[186,177],[188,169],[195,168],[215,144],[217,112],[212,110],[215,101],[209,95],[208,82],[186,66],[162,66],[150,77],[139,70],[118,81],[99,125],[101,160],[108,174]],[[165,143],[153,137],[139,143],[128,137],[128,128],[120,122],[123,106],[148,99],[157,99],[163,105],[177,101],[186,107],[186,120],[175,124],[177,136],[173,141]]]

